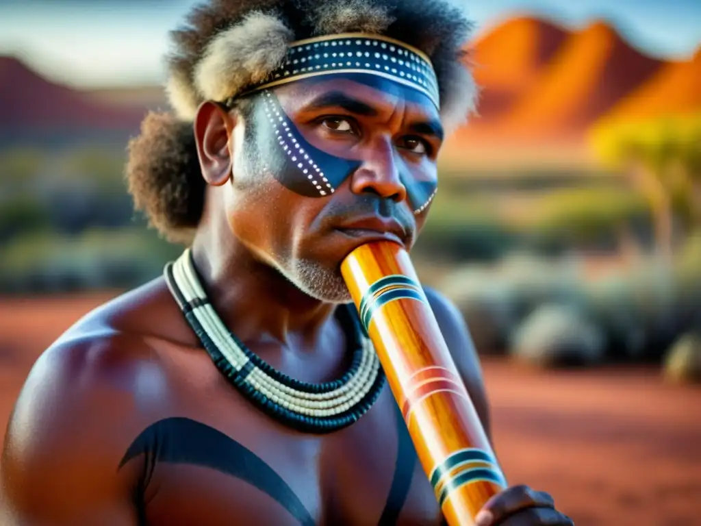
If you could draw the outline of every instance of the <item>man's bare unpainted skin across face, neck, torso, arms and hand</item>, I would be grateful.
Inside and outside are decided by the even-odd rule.
[[[198,111],[193,129],[209,187],[193,242],[196,266],[226,326],[293,378],[325,382],[348,367],[346,336],[333,316],[348,301],[343,258],[379,238],[410,249],[426,222],[430,207],[414,214],[407,185],[436,181],[442,130],[430,100],[407,90],[342,76],[275,88],[310,144],[358,161],[329,196],[301,196],[281,184],[294,175],[273,176],[274,152],[255,154],[257,146],[245,142],[251,123],[235,110],[206,102]],[[393,233],[373,222],[390,224]],[[482,375],[463,320],[437,292],[426,294],[489,435]],[[299,524],[264,492],[210,468],[156,464],[148,480],[143,458],[118,468],[149,425],[187,417],[257,454],[315,525],[376,525],[383,511],[390,517],[384,524],[440,525],[435,495],[413,456],[406,460],[414,466],[407,492],[397,509],[386,510],[396,414],[385,386],[358,422],[329,435],[299,433],[266,417],[219,373],[158,278],[90,313],[35,365],[0,462],[7,514],[0,522]],[[534,505],[541,507],[512,514]],[[527,487],[510,488],[489,510],[495,521],[510,515],[499,522],[505,526],[571,524],[547,494]]]

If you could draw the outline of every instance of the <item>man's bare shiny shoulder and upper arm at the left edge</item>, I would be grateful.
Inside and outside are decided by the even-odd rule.
[[[149,419],[139,410],[139,384],[158,367],[142,325],[131,320],[143,318],[149,301],[139,291],[100,306],[36,360],[0,457],[1,497],[18,523],[130,513],[135,473],[118,473],[118,466]],[[102,515],[76,515],[96,503],[104,504]],[[128,523],[109,517],[110,524]]]

